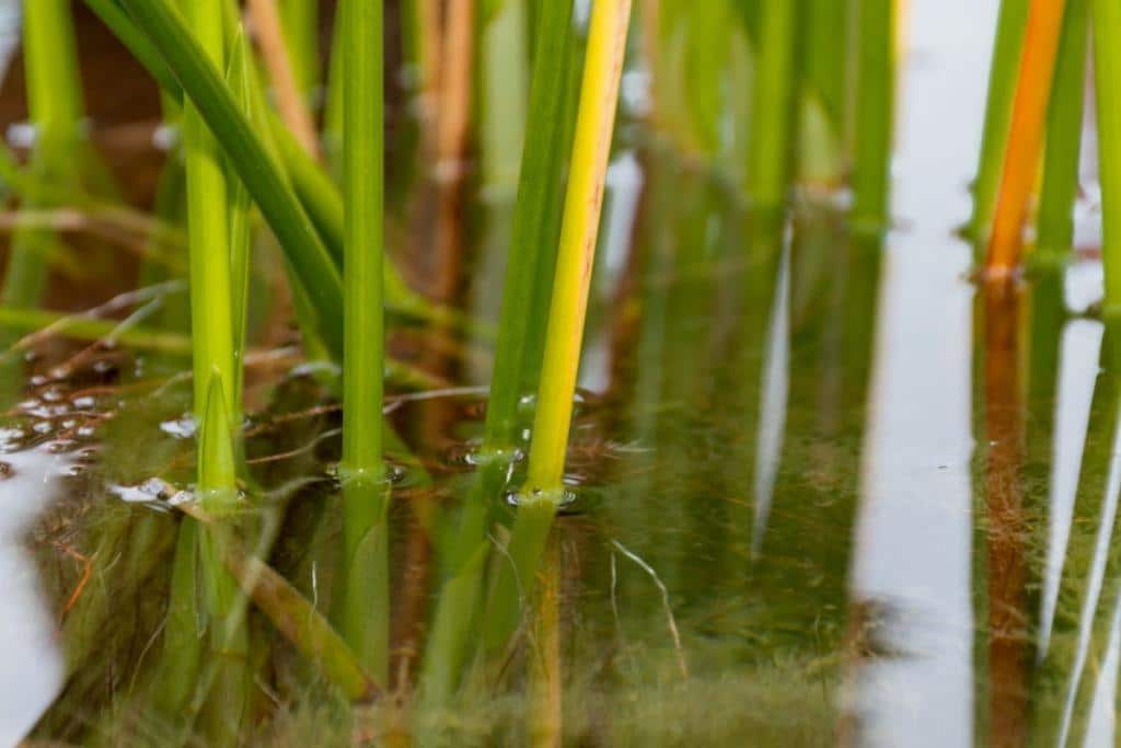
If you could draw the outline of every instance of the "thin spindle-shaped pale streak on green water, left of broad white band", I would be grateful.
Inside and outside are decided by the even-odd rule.
[[[751,527],[751,554],[758,556],[767,534],[778,474],[779,452],[786,430],[786,401],[790,390],[790,242],[782,242],[782,257],[778,268],[778,293],[771,310],[771,325],[767,333],[767,362],[761,393],[762,413],[759,416],[756,450],[754,524]]]

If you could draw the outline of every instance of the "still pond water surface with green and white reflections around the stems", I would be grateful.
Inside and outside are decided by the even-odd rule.
[[[995,4],[910,3],[898,228],[882,241],[821,205],[769,224],[724,175],[640,127],[620,138],[569,454],[576,500],[544,572],[568,745],[1115,745],[1121,334],[1082,315],[1100,264],[993,297],[954,233]],[[483,318],[509,202],[470,196],[452,230],[472,271],[458,302]],[[184,301],[174,284],[154,294],[121,307],[148,320]],[[30,745],[159,744],[145,699],[176,493],[193,481],[186,360],[52,334],[19,345],[26,360],[0,375],[0,744],[29,730]],[[391,386],[387,401],[413,453],[395,454],[395,693],[420,669],[473,478],[489,347],[393,333],[398,355],[441,380]],[[262,555],[326,612],[333,375],[284,341],[248,366]],[[392,709],[342,710],[269,621],[250,613],[250,628],[247,742],[400,737]],[[530,621],[499,672],[469,675],[443,708],[407,704],[402,732],[522,745],[525,661],[548,636]]]

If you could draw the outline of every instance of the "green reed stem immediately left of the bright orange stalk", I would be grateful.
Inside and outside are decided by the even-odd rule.
[[[989,71],[989,99],[985,103],[981,157],[973,185],[971,232],[978,246],[989,242],[997,193],[1004,166],[1004,150],[1012,123],[1012,99],[1020,71],[1023,29],[1028,22],[1028,0],[1001,0]]]

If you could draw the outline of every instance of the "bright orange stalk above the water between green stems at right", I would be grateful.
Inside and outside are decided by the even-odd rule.
[[[1007,277],[1020,266],[1023,222],[1039,166],[1065,6],[1065,0],[1031,0],[1028,11],[1011,132],[985,261],[991,277]]]

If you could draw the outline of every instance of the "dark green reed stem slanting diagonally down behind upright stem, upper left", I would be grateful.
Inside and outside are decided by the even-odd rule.
[[[159,48],[168,67],[210,126],[307,289],[316,329],[342,358],[342,279],[280,167],[241,112],[217,68],[176,13],[159,0],[120,0]]]

